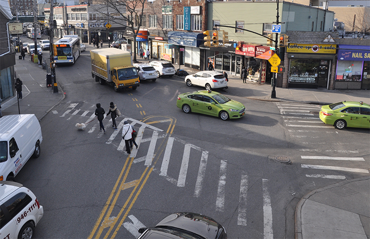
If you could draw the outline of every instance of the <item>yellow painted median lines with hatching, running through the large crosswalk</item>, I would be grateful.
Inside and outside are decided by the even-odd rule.
[[[142,120],[142,122],[144,122],[144,121],[146,121],[146,120],[148,120],[149,118],[152,118],[152,117],[159,117],[159,116],[146,117]],[[163,117],[163,116],[160,116],[160,117]],[[159,156],[162,154],[162,152],[165,148],[165,145],[166,145],[164,142],[167,142],[168,137],[173,132],[174,126],[176,124],[176,119],[172,118],[172,117],[169,117],[169,116],[166,116],[166,118],[169,118],[168,121],[170,122],[170,124],[167,128],[167,131],[166,131],[167,136],[164,138],[164,140],[162,140],[160,146],[158,147],[157,153],[155,153],[155,158],[153,160],[152,165],[150,167],[145,167],[145,170],[142,172],[139,179],[126,182],[128,173],[130,171],[130,168],[131,168],[131,165],[132,165],[132,162],[133,162],[133,157],[128,156],[126,158],[126,160],[124,162],[124,165],[123,165],[123,168],[122,168],[121,172],[119,173],[119,176],[118,176],[118,178],[117,178],[117,180],[114,184],[114,187],[113,187],[107,201],[105,202],[105,205],[104,205],[102,211],[100,212],[100,215],[99,215],[97,221],[95,222],[95,225],[92,228],[92,231],[91,231],[90,235],[87,237],[88,239],[92,239],[92,238],[96,238],[96,239],[98,239],[98,238],[104,238],[104,239],[114,238],[115,235],[117,234],[120,226],[123,224],[124,220],[126,219],[126,217],[128,215],[128,212],[132,208],[132,206],[135,203],[138,195],[140,194],[143,186],[145,185],[147,179],[149,178],[150,173],[152,172],[152,170],[154,168],[154,165],[158,161]],[[151,122],[147,122],[147,123],[151,124],[151,123],[160,122],[160,121],[163,121],[163,120],[151,121]],[[124,202],[123,206],[120,208],[117,216],[115,216],[115,217],[111,216],[111,213],[114,209],[114,206],[117,203],[120,192],[127,189],[127,188],[131,188],[131,187],[133,187],[133,189],[132,189],[131,193],[129,194],[129,196],[127,197],[126,201]],[[118,221],[119,221],[119,223],[117,224]]]

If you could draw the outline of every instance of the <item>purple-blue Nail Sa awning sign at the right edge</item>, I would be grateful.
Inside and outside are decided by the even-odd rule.
[[[368,45],[338,45],[338,60],[370,61],[370,46]]]

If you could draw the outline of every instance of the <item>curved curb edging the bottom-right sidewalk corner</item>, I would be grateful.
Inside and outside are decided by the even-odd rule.
[[[342,186],[342,185],[345,185],[347,183],[350,183],[350,182],[354,182],[354,181],[363,181],[363,180],[369,180],[370,179],[370,176],[367,176],[367,177],[360,177],[360,178],[355,178],[355,179],[351,179],[351,180],[343,180],[343,181],[340,181],[340,182],[337,182],[337,183],[334,183],[334,184],[331,184],[331,185],[328,185],[328,186],[324,186],[324,187],[321,187],[321,188],[317,188],[315,190],[312,190],[310,192],[308,192],[307,194],[305,194],[297,203],[296,207],[295,207],[295,215],[294,215],[294,238],[295,239],[302,239],[303,238],[303,234],[302,234],[302,224],[301,224],[301,210],[302,210],[302,206],[304,204],[304,202],[306,200],[308,200],[308,198],[317,193],[317,192],[321,192],[321,191],[324,191],[326,189],[329,189],[329,188],[332,188],[332,187],[336,187],[336,186]]]

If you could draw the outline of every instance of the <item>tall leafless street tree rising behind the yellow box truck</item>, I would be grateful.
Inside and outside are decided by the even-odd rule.
[[[93,5],[96,12],[103,14],[109,22],[126,26],[133,32],[133,62],[136,60],[136,36],[142,24],[142,12],[146,0],[101,0]]]

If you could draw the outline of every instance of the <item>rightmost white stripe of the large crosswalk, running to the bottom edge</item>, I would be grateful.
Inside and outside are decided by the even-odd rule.
[[[263,196],[263,238],[273,239],[271,198],[268,192],[268,180],[262,179]]]

